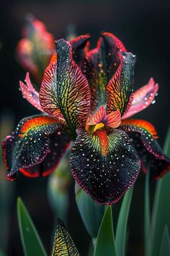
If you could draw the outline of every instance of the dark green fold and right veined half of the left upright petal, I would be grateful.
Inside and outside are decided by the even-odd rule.
[[[89,85],[79,66],[72,59],[70,43],[63,39],[58,40],[56,48],[56,98],[68,127],[75,133],[76,128],[86,125],[89,116]]]

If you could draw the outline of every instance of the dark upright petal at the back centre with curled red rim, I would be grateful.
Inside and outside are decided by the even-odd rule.
[[[106,86],[120,64],[122,42],[112,33],[102,33],[97,48],[86,54],[84,74],[91,89],[91,112],[106,102]]]

